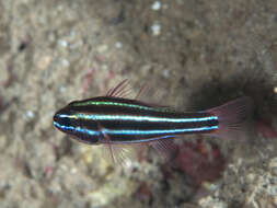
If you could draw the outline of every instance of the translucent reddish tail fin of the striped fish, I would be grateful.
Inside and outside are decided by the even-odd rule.
[[[243,137],[246,136],[247,116],[251,114],[252,109],[253,102],[252,99],[247,96],[208,109],[207,112],[218,116],[219,120],[219,129],[213,135],[231,139],[243,139]]]

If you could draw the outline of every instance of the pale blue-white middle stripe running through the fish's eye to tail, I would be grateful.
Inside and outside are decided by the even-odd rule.
[[[162,118],[151,116],[130,116],[130,115],[88,115],[88,114],[74,114],[58,115],[60,118],[74,118],[74,119],[92,119],[92,120],[135,120],[135,122],[166,122],[166,123],[192,123],[192,122],[208,122],[217,120],[217,116],[208,116],[200,118]]]

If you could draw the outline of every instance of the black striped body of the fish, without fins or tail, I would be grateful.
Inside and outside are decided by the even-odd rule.
[[[149,142],[184,134],[208,134],[218,129],[218,117],[207,112],[182,113],[122,97],[76,101],[59,111],[54,124],[89,143]]]

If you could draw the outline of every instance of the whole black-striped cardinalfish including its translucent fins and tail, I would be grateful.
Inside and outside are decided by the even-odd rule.
[[[114,162],[123,162],[124,152],[134,146],[151,146],[164,155],[180,135],[238,137],[251,104],[250,97],[241,97],[211,109],[185,113],[139,101],[143,88],[135,99],[127,99],[127,86],[124,80],[105,96],[69,103],[55,114],[54,125],[81,142],[104,145]]]

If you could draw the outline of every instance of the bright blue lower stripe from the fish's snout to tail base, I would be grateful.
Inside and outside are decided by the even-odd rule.
[[[78,132],[88,134],[91,136],[100,136],[100,131],[97,130],[90,130],[86,128],[81,127],[73,127],[73,126],[64,126],[56,122],[54,125],[62,130],[76,130]],[[181,134],[181,132],[192,132],[192,131],[206,131],[206,130],[215,130],[218,129],[218,126],[210,126],[210,127],[199,127],[199,128],[184,128],[184,129],[168,129],[168,130],[109,130],[104,129],[102,132],[107,135],[165,135],[165,134]]]

